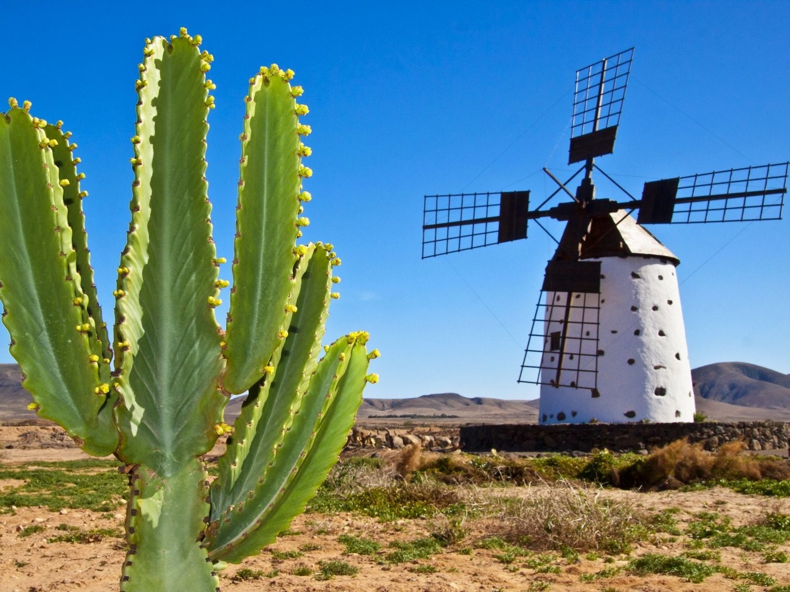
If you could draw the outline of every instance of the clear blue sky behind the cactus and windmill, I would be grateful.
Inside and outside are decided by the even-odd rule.
[[[570,174],[576,69],[636,47],[615,154],[598,161],[631,193],[790,159],[790,2],[113,4],[6,6],[0,76],[0,96],[31,100],[79,144],[105,315],[129,216],[143,39],[186,26],[215,57],[207,176],[220,256],[232,257],[247,79],[276,62],[305,88],[306,237],[343,259],[327,334],[365,328],[382,351],[368,396],[537,395],[516,379],[554,243],[531,225],[526,241],[420,260],[422,197],[531,189],[542,200],[553,189],[542,167]],[[790,219],[651,230],[682,262],[692,367],[790,373]]]

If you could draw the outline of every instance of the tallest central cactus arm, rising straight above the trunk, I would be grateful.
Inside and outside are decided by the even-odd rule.
[[[120,458],[167,476],[213,446],[227,403],[217,390],[223,360],[204,177],[213,58],[187,37],[156,37],[144,54],[132,223],[116,290],[115,417]]]

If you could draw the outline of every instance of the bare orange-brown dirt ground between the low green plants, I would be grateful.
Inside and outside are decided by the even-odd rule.
[[[41,429],[41,428],[38,428]],[[76,448],[22,448],[20,436],[29,428],[0,428],[0,464],[9,466],[32,460],[68,460],[85,458]],[[43,433],[42,441],[49,436]],[[56,440],[57,438],[55,438]],[[28,437],[31,440],[31,437]],[[35,440],[35,438],[32,438]],[[12,444],[14,448],[2,448],[2,443]],[[33,445],[33,444],[32,444]],[[18,485],[18,482],[0,481],[0,491],[4,487]],[[540,489],[540,487],[538,488]],[[491,489],[491,495],[525,495],[525,488]],[[714,488],[700,492],[662,492],[635,493],[616,489],[604,489],[601,496],[613,500],[631,500],[638,507],[649,511],[662,508],[680,508],[676,516],[680,523],[689,522],[691,516],[699,511],[717,511],[728,516],[735,525],[755,523],[766,511],[790,513],[790,500],[771,500],[761,496],[747,496],[733,493],[730,489]],[[55,542],[48,543],[60,531],[56,526],[67,524],[87,528],[112,528],[122,530],[125,508],[120,506],[115,513],[105,513],[66,509],[61,512],[47,511],[47,508],[17,508],[12,514],[0,515],[0,591],[2,592],[51,592],[58,590],[81,590],[85,592],[107,592],[117,590],[120,564],[124,557],[122,539],[107,537],[88,544]],[[26,526],[40,525],[43,531],[28,537],[21,537],[20,530]],[[260,555],[251,557],[240,566],[230,566],[221,572],[222,590],[246,592],[247,590],[343,590],[344,592],[445,592],[447,590],[468,590],[498,592],[503,590],[581,590],[600,592],[601,590],[639,590],[640,592],[660,592],[673,590],[733,590],[735,582],[716,574],[703,583],[683,582],[675,576],[615,575],[607,579],[590,582],[580,581],[579,576],[593,574],[604,568],[624,566],[626,556],[615,556],[615,563],[604,563],[605,555],[597,559],[569,562],[561,560],[559,573],[536,573],[529,568],[510,571],[505,564],[495,560],[496,550],[472,549],[471,554],[461,553],[461,548],[472,545],[475,536],[482,534],[483,526],[472,523],[472,533],[468,540],[427,560],[416,560],[404,564],[387,564],[382,555],[387,553],[386,545],[391,541],[406,541],[428,536],[435,523],[427,520],[399,520],[394,523],[381,523],[377,519],[350,514],[321,515],[307,514],[297,517],[292,524],[292,534],[280,538],[276,544],[264,549]],[[355,534],[371,538],[382,544],[377,555],[344,555],[344,545],[337,541],[340,534]],[[666,535],[653,542],[635,545],[631,557],[645,553],[665,553],[678,556],[687,547],[681,537],[670,541]],[[308,550],[295,559],[279,560],[273,552],[296,550],[304,545],[320,548]],[[790,552],[790,545],[780,545],[780,550]],[[764,564],[760,553],[745,553],[742,549],[725,547],[720,549],[721,563],[739,571],[762,571],[777,579],[778,584],[790,584],[790,564]],[[317,568],[321,560],[344,560],[359,568],[355,576],[337,576],[327,582],[311,576],[293,575],[296,568],[307,566]],[[431,564],[434,573],[424,573],[420,566]],[[240,568],[260,570],[269,573],[279,571],[279,575],[261,579],[235,580]],[[549,586],[540,583],[548,583]],[[764,586],[752,586],[751,590],[767,590]],[[154,592],[152,590],[152,592]]]

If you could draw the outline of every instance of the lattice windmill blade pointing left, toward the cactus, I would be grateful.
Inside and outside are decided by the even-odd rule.
[[[529,191],[427,195],[423,259],[527,238]]]

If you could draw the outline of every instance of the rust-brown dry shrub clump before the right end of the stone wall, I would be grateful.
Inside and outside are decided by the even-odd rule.
[[[761,456],[743,455],[743,441],[722,444],[715,454],[705,452],[702,443],[675,440],[645,459],[612,471],[612,485],[626,489],[655,489],[710,479],[790,478],[788,463]]]

